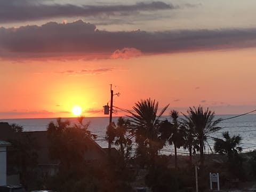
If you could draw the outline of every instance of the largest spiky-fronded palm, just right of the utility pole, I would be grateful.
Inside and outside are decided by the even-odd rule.
[[[162,146],[159,139],[159,117],[163,115],[168,106],[165,106],[157,115],[158,102],[149,98],[135,103],[133,107],[135,113],[130,112],[132,115],[130,116],[131,132],[135,135],[135,142],[138,144],[137,155],[141,156],[144,161],[149,156],[150,165],[154,164],[154,158]]]

